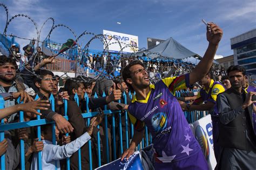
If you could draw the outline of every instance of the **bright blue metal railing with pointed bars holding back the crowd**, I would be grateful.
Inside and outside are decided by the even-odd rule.
[[[180,92],[177,91],[176,95],[179,96]],[[130,98],[132,98],[131,93],[127,94]],[[105,96],[105,94],[103,94],[103,97]],[[124,103],[126,104],[126,94],[123,94],[124,97]],[[38,96],[36,97],[36,99],[38,98]],[[90,124],[90,119],[94,116],[97,116],[99,114],[99,111],[95,111],[95,112],[90,112],[89,110],[89,97],[87,96],[87,94],[85,94],[84,96],[85,101],[86,101],[86,113],[83,113],[82,116],[83,118],[87,119],[87,125]],[[97,98],[97,95],[95,94],[95,98]],[[50,96],[49,101],[51,103],[51,109],[54,111],[55,110],[55,98],[53,97],[53,95]],[[77,95],[75,95],[75,101],[77,102],[78,106],[79,106],[79,98]],[[118,101],[120,103],[120,100]],[[4,108],[4,100],[3,97],[0,96],[0,109]],[[68,110],[68,101],[64,100],[64,118],[66,120],[69,120],[69,117],[67,116]],[[39,112],[39,110],[38,110]],[[90,169],[93,169],[93,164],[96,164],[97,166],[102,166],[102,163],[107,164],[111,161],[110,158],[110,150],[112,149],[112,159],[116,160],[118,158],[118,156],[120,154],[123,153],[123,151],[129,147],[129,143],[130,143],[130,139],[133,136],[133,124],[129,123],[129,119],[127,116],[127,111],[123,111],[122,114],[124,114],[125,116],[125,135],[123,137],[123,132],[122,132],[122,114],[121,114],[121,110],[118,111],[111,111],[111,110],[107,110],[107,106],[104,106],[104,125],[103,125],[103,129],[104,129],[104,133],[105,133],[105,148],[103,148],[103,150],[105,150],[106,155],[102,155],[101,154],[101,149],[100,149],[100,141],[102,141],[102,138],[100,138],[100,133],[99,131],[97,132],[96,138],[96,151],[93,152],[97,152],[97,164],[96,162],[92,162],[92,139],[87,141],[88,143],[88,147],[89,147],[89,165],[90,165]],[[200,111],[194,111],[194,112],[185,112],[185,116],[188,120],[188,123],[194,122],[197,119],[201,118],[204,116],[203,112]],[[107,127],[107,121],[111,119],[112,122],[112,135],[111,135],[111,140],[112,140],[112,148],[109,147],[109,137],[108,137],[108,127]],[[118,124],[116,125],[116,120],[118,120]],[[55,136],[55,122],[49,122],[46,121],[45,119],[41,119],[39,115],[37,115],[36,120],[33,121],[28,121],[28,122],[24,122],[24,115],[23,115],[23,111],[19,112],[19,122],[18,123],[10,123],[10,124],[4,124],[4,120],[2,119],[1,121],[1,125],[0,125],[0,140],[4,140],[4,131],[9,131],[9,130],[15,130],[15,129],[21,129],[21,128],[29,128],[29,127],[36,127],[37,129],[37,134],[36,137],[39,139],[39,141],[41,140],[41,125],[44,124],[52,124],[52,144],[56,144],[56,136]],[[129,124],[130,124],[130,130],[129,130]],[[118,127],[118,133],[116,132],[116,126]],[[97,126],[97,128],[99,128],[99,125]],[[130,137],[129,137],[129,131],[130,133]],[[116,135],[119,135],[119,143],[117,144],[117,140],[116,140]],[[68,133],[66,134],[66,136],[68,136]],[[125,144],[123,144],[123,142]],[[103,143],[103,141],[102,141]],[[142,140],[142,142],[138,145],[137,150],[140,150],[141,148],[143,148],[144,146],[149,146],[152,143],[152,136],[151,134],[148,133],[147,131],[147,127],[145,126],[145,135],[144,138]],[[25,169],[25,152],[24,152],[24,140],[21,139],[19,141],[20,144],[20,157],[21,157],[21,169]],[[117,153],[117,148],[119,147],[119,153]],[[42,153],[33,153],[33,154],[38,154],[38,169],[42,169]],[[84,153],[83,153],[84,154]],[[103,156],[106,156],[106,161],[103,162]],[[1,169],[5,169],[5,154],[2,155],[1,157]],[[82,165],[81,165],[81,152],[80,150],[78,151],[78,160],[77,160],[77,165],[79,167],[79,169],[82,169]],[[57,164],[55,164],[57,165]],[[67,169],[70,169],[70,161],[69,158],[66,159],[66,167]]]

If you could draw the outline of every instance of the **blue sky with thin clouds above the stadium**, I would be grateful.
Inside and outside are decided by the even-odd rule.
[[[55,24],[65,24],[77,35],[87,30],[96,34],[110,30],[136,35],[139,48],[146,47],[146,38],[174,38],[191,51],[203,56],[207,48],[206,28],[201,22],[217,23],[224,30],[217,55],[231,55],[230,38],[256,27],[255,0],[217,0],[217,1],[173,1],[173,0],[137,0],[137,1],[39,1],[8,0],[0,1],[8,6],[9,18],[24,13],[35,20],[40,28],[44,21],[52,17]],[[0,9],[0,30],[5,25],[4,9]],[[120,22],[121,24],[117,24]],[[46,37],[51,22],[45,24],[41,40]],[[36,38],[35,26],[24,18],[16,18],[9,25],[7,33],[20,37]],[[51,39],[65,42],[73,38],[64,28],[56,29]],[[80,39],[86,44],[90,36]],[[18,40],[21,45],[28,41]],[[99,40],[91,43],[92,49],[103,49]]]

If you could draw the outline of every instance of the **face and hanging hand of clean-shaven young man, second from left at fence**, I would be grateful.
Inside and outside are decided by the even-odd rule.
[[[54,74],[49,70],[37,70],[34,77],[34,83],[38,88],[38,96],[41,100],[49,100],[50,94],[53,91],[53,76]],[[42,116],[48,121],[55,121],[57,128],[61,133],[70,133],[73,131],[72,125],[57,112],[49,110],[42,110]]]

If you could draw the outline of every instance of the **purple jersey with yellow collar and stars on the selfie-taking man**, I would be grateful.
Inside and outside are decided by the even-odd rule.
[[[129,117],[137,131],[143,130],[144,123],[152,134],[156,162],[174,162],[191,157],[201,148],[194,138],[175,91],[189,87],[189,74],[168,77],[150,84],[145,100],[136,95],[129,105]],[[167,166],[167,165],[166,165]]]

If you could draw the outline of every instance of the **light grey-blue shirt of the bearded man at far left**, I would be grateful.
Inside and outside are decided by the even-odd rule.
[[[24,83],[23,83],[24,84]],[[28,89],[29,87],[28,86],[26,86],[26,84],[24,84],[24,86],[25,86],[25,88],[26,89]],[[2,85],[0,85],[0,93],[6,93],[6,92],[8,92],[8,93],[16,93],[18,90],[17,90],[17,88],[16,88],[16,82],[15,81],[13,81],[12,82],[12,84],[11,84],[11,86],[10,86],[10,88],[9,88],[9,90],[8,91],[5,91],[5,89],[4,89],[4,87],[2,86]],[[12,107],[12,106],[14,106],[15,105],[15,103],[16,103],[16,100],[14,99],[14,100],[6,100],[6,101],[4,101],[4,108],[8,108],[8,107]],[[15,114],[12,114],[9,118],[8,118],[8,122],[12,122],[12,121],[14,121],[14,118],[15,118],[15,116],[17,115],[17,113],[15,113]]]

